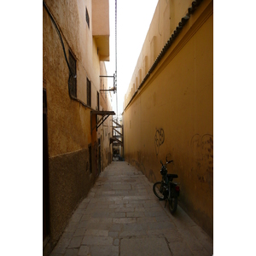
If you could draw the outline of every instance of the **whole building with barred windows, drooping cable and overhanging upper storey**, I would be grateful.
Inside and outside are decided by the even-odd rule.
[[[111,159],[108,0],[43,1],[44,246]],[[101,124],[100,120],[104,119]],[[107,134],[107,136],[104,136]]]

